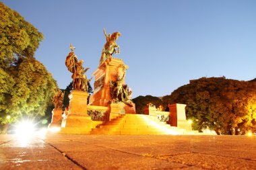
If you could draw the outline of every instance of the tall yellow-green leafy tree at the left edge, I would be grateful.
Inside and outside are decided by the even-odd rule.
[[[44,115],[57,83],[34,58],[42,33],[3,3],[0,19],[0,123],[7,130],[22,116]]]

